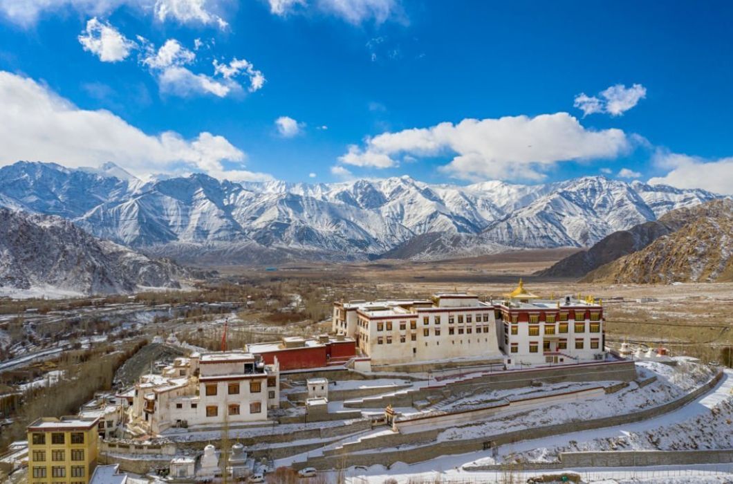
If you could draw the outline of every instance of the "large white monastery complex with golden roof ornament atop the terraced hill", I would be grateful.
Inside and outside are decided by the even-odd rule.
[[[592,298],[539,298],[519,286],[492,301],[438,293],[422,301],[334,303],[332,329],[372,366],[454,359],[507,367],[605,359],[603,307]]]

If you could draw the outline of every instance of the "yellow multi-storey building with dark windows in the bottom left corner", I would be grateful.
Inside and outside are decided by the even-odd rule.
[[[97,464],[99,419],[41,418],[28,426],[29,484],[87,484]]]

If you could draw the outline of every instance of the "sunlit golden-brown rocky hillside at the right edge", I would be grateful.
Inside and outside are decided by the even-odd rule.
[[[680,226],[644,249],[595,269],[581,281],[733,281],[733,200],[715,200],[697,208],[676,210],[660,221]]]

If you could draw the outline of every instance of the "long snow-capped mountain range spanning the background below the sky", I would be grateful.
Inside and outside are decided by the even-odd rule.
[[[18,162],[0,169],[2,206],[64,216],[98,237],[158,255],[205,258],[211,249],[232,261],[244,252],[267,260],[432,258],[591,246],[716,197],[605,177],[454,186],[410,177],[317,184],[232,183],[200,174],[138,180],[114,164],[67,169]]]

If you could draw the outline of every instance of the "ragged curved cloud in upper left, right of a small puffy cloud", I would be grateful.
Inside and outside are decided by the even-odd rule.
[[[138,39],[144,46],[144,54],[140,58],[141,64],[150,68],[161,92],[166,94],[180,97],[210,94],[224,98],[242,91],[241,85],[235,80],[242,76],[249,79],[250,92],[262,88],[265,84],[265,76],[244,59],[232,59],[229,64],[221,64],[215,59],[214,75],[209,76],[194,73],[188,67],[196,61],[196,53],[185,48],[177,40],[166,40],[166,43],[156,49],[143,37]]]

